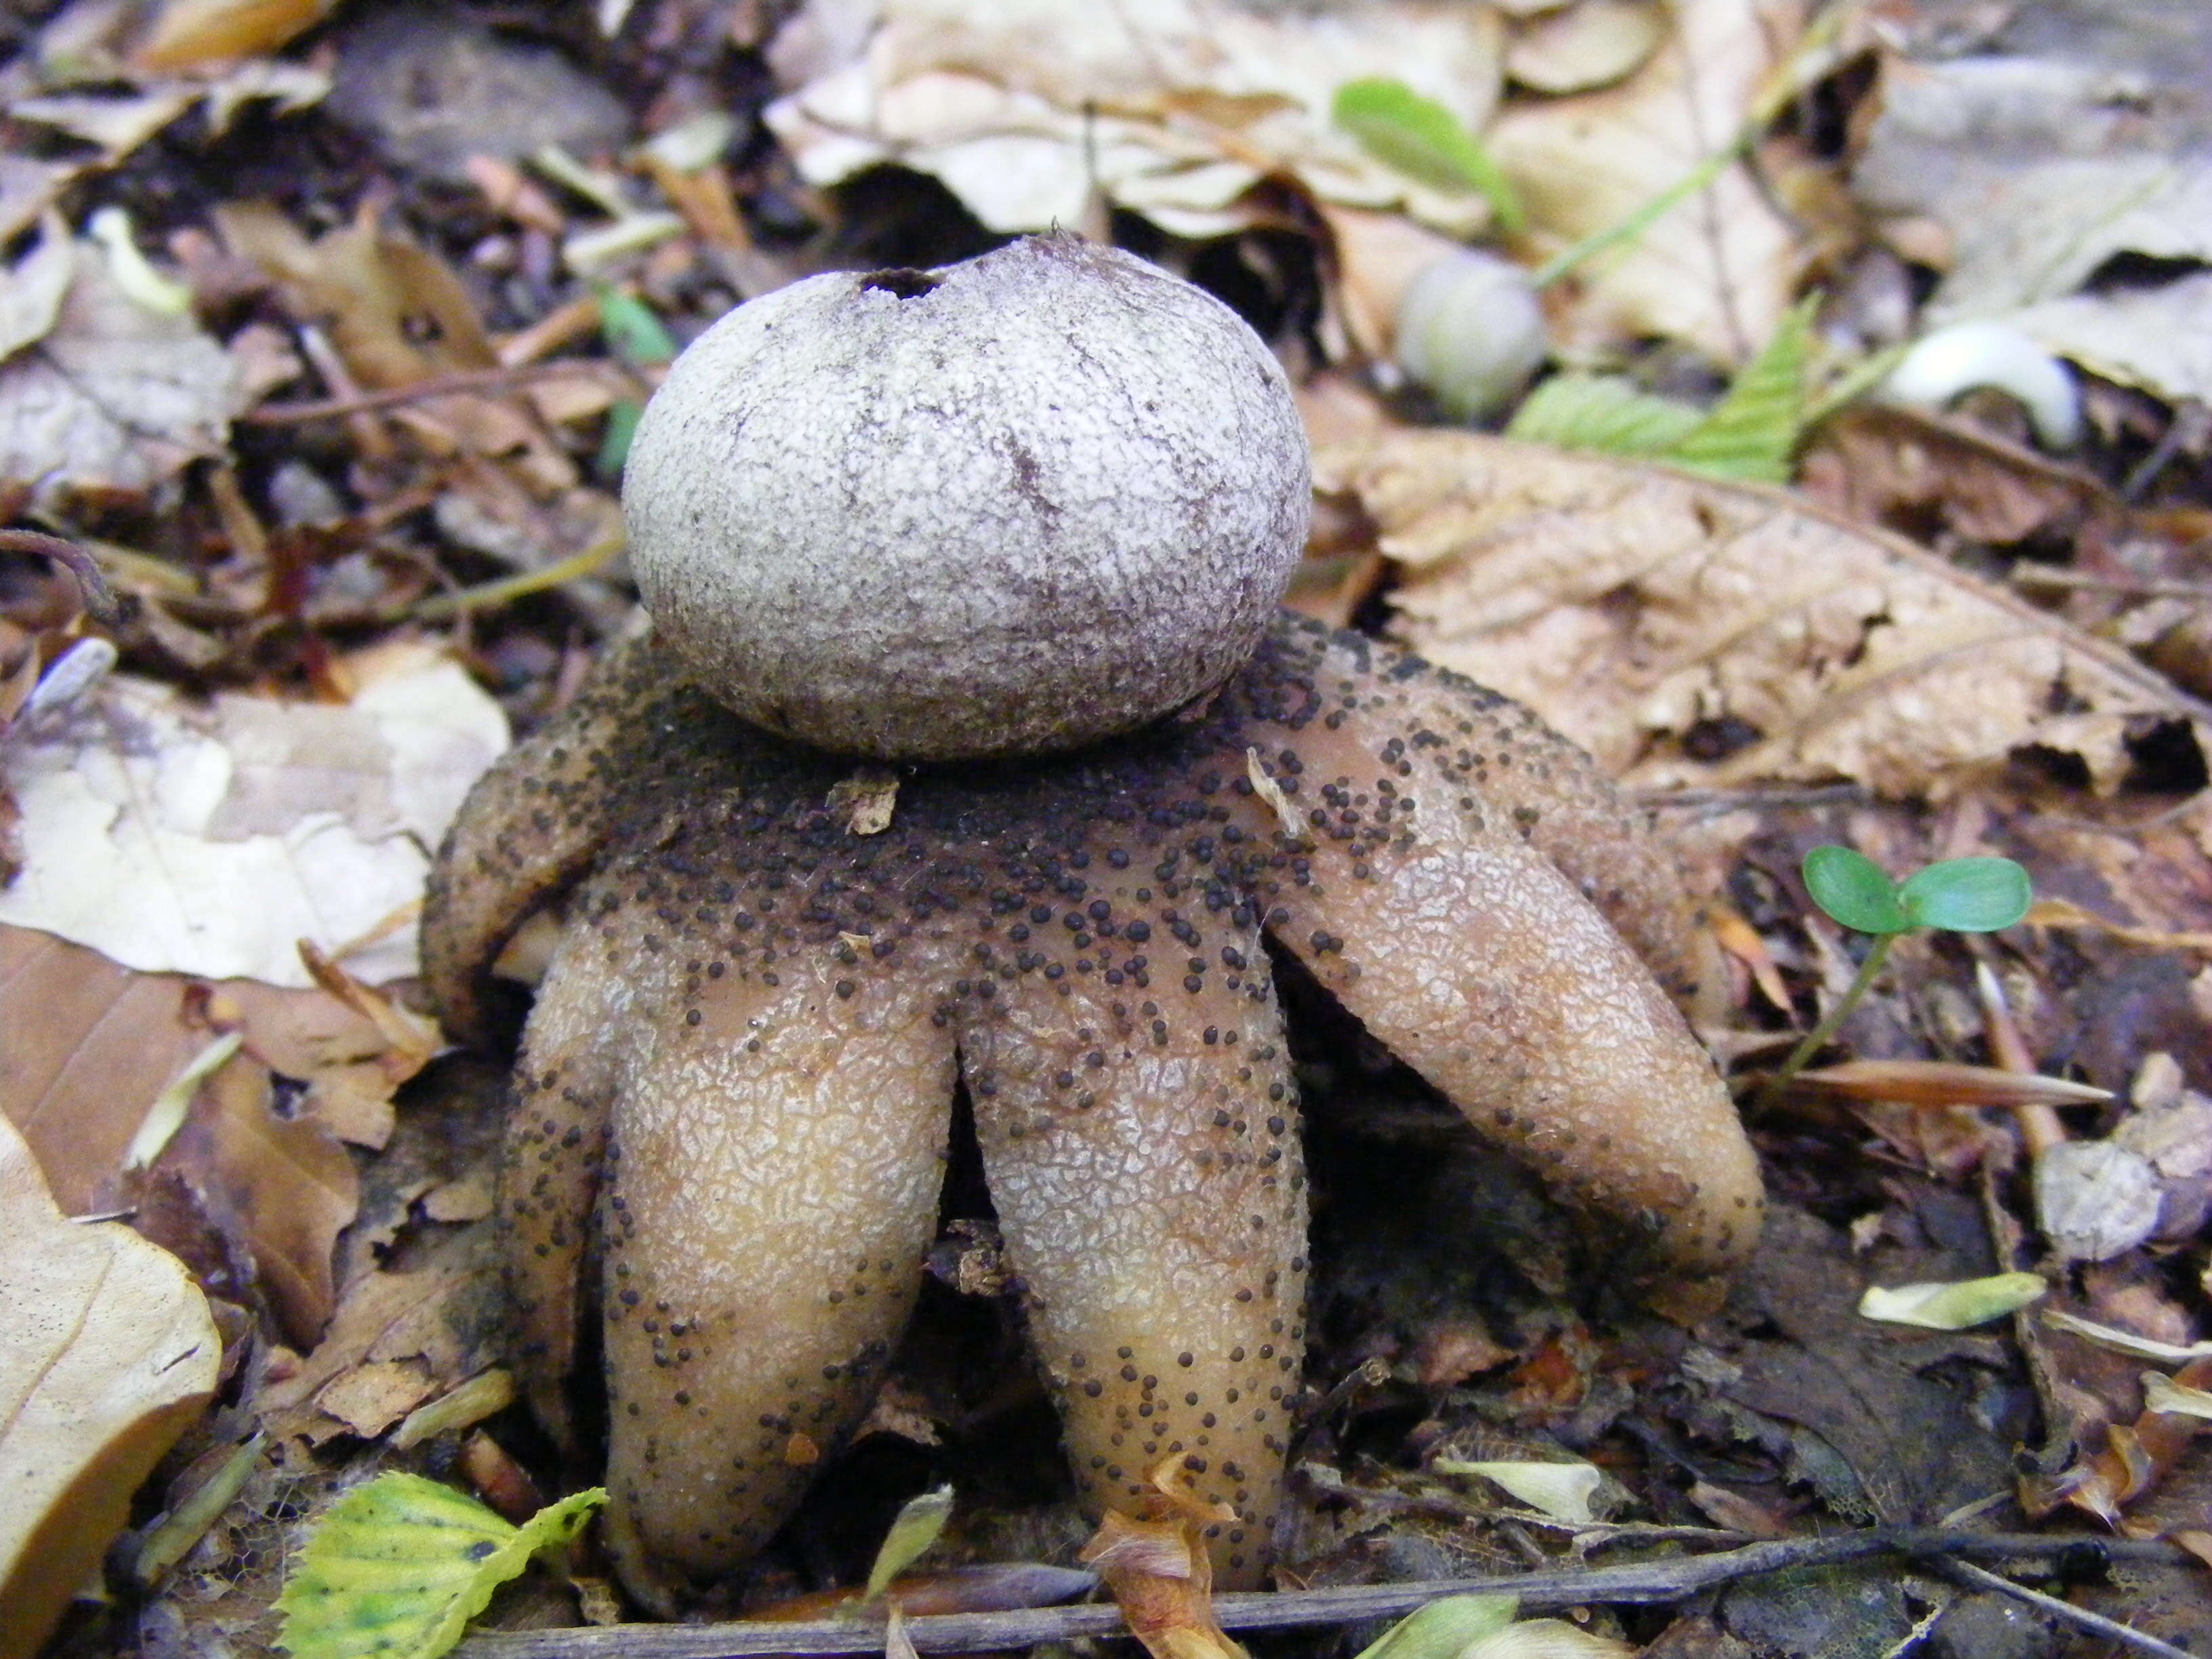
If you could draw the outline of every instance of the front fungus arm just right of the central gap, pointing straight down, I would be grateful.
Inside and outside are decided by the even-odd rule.
[[[1051,967],[1068,971],[1002,982],[960,1055],[1086,1509],[1139,1509],[1172,1462],[1237,1511],[1210,1528],[1214,1575],[1250,1586],[1305,1354],[1296,1095],[1259,929],[1192,902],[1175,938],[1175,905],[1135,885],[1093,885],[1119,949],[1062,931]],[[1133,949],[1130,922],[1152,940]],[[1133,953],[1159,964],[1148,984],[1108,984],[1106,960]]]

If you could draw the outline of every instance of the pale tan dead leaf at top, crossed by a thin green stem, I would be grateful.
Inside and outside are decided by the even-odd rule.
[[[1672,38],[1630,80],[1515,104],[1489,133],[1535,230],[1555,246],[1626,221],[1734,144],[1801,31],[1796,0],[1681,0]],[[1798,248],[1743,166],[1584,268],[1553,312],[1562,334],[1688,341],[1719,363],[1765,345]]]

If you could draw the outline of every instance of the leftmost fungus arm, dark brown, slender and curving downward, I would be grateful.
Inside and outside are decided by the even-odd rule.
[[[575,701],[502,754],[462,801],[422,898],[422,978],[445,1029],[487,1044],[484,975],[533,911],[606,843],[653,710],[670,695],[650,637],[613,646]]]

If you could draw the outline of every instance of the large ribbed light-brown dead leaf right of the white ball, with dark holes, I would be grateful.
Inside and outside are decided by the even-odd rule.
[[[1794,498],[1458,431],[1316,456],[1405,566],[1396,633],[1637,785],[1913,796],[2020,750],[2099,792],[2212,710],[1900,538]]]

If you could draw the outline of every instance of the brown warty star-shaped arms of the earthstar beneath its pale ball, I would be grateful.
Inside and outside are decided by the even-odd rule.
[[[827,292],[927,307],[993,261],[1137,281],[1135,261],[1053,239]],[[1168,279],[1141,281],[1190,307]],[[1128,365],[1108,396],[1181,396],[1186,365],[1161,369],[1157,396]],[[967,367],[945,372],[964,385]],[[1267,369],[1254,385],[1287,407]],[[684,376],[670,392],[719,396]],[[1068,425],[1040,442],[1119,431],[1121,414],[1073,394],[1042,403]],[[681,418],[648,414],[633,473],[655,425]],[[1219,429],[1272,416],[1237,420]],[[1002,434],[971,411],[960,425],[987,434],[991,465],[951,476],[995,495]],[[1267,478],[1283,471],[1305,489],[1303,449]],[[1053,491],[1106,498],[1064,471],[1035,482],[1040,502],[1006,509],[1013,535],[1051,520]],[[655,535],[668,511],[633,522]],[[1750,1146],[1668,1000],[1710,980],[1668,852],[1528,710],[1270,613],[1287,571],[1270,538],[1303,502],[1239,511],[1261,573],[1232,588],[1263,593],[1243,655],[1155,677],[1152,706],[1113,721],[1141,730],[1024,732],[1066,752],[911,765],[883,834],[827,807],[849,759],[732,712],[743,697],[721,675],[741,664],[699,646],[670,664],[650,635],[615,648],[456,821],[422,933],[453,1031],[484,1035],[491,960],[566,900],[500,1210],[522,1365],[555,1436],[571,1433],[580,1329],[604,1321],[611,1540],[648,1606],[675,1613],[739,1566],[865,1411],[936,1232],[956,1079],[1086,1504],[1133,1504],[1179,1460],[1201,1502],[1237,1511],[1212,1537],[1219,1579],[1256,1579],[1305,1334],[1305,1175],[1270,949],[1655,1270],[1712,1274],[1752,1248]],[[1095,602],[1073,575],[1037,591]],[[1084,628],[1071,615],[1062,635]],[[1024,710],[987,701],[962,748],[1002,754]]]

